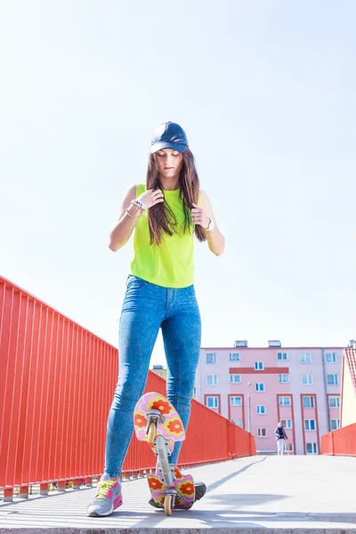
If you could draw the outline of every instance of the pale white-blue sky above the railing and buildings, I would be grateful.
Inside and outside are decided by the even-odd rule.
[[[117,345],[132,243],[113,254],[108,234],[173,120],[227,241],[196,247],[203,346],[346,344],[355,16],[343,0],[4,0],[0,273]]]

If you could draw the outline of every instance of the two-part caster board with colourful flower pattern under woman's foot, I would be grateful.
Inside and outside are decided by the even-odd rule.
[[[158,457],[156,473],[148,477],[156,505],[164,508],[166,515],[171,515],[174,508],[191,508],[195,501],[193,477],[168,463],[175,441],[185,440],[182,420],[174,406],[160,393],[146,393],[134,409],[134,431]]]

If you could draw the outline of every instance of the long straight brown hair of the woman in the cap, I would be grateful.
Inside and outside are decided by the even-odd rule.
[[[190,231],[190,209],[192,204],[197,204],[199,193],[199,178],[197,169],[195,167],[195,160],[191,150],[187,147],[182,153],[183,165],[179,176],[181,187],[181,200],[184,211],[183,231]],[[156,155],[150,154],[149,166],[147,169],[146,179],[147,189],[162,189],[159,182],[158,167],[156,166]],[[148,211],[149,227],[150,227],[150,244],[156,243],[158,246],[164,233],[172,236],[180,229],[171,208],[165,202],[158,202],[155,206],[150,207]],[[199,241],[206,240],[206,233],[200,225],[196,225],[194,229],[195,235]]]

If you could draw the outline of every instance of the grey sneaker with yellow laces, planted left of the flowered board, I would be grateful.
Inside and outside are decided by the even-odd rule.
[[[87,514],[90,517],[101,517],[101,515],[110,515],[121,506],[123,498],[121,495],[121,481],[110,481],[108,473],[103,473],[98,483],[93,502],[87,508]]]

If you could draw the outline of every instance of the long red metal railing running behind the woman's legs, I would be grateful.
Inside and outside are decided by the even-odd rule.
[[[117,382],[117,349],[0,277],[0,488],[101,474],[107,417]],[[146,392],[165,393],[149,374]],[[253,436],[196,401],[181,465],[255,454]],[[146,443],[133,440],[125,473],[154,467]]]

